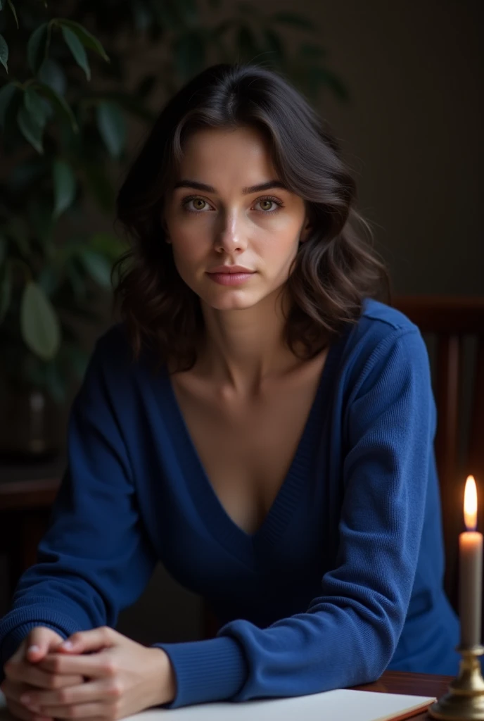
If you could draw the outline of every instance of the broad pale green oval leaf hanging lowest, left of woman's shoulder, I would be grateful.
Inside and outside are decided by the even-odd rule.
[[[24,288],[20,301],[20,329],[30,350],[50,361],[60,347],[60,324],[50,300],[33,280]]]

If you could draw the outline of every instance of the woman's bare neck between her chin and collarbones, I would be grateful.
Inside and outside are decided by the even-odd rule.
[[[248,309],[219,311],[202,304],[205,341],[197,366],[220,386],[240,395],[256,394],[264,381],[295,366],[284,342],[284,300],[267,296]]]

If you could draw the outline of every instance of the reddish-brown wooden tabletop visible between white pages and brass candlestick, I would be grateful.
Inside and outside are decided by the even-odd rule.
[[[435,696],[439,699],[447,693],[452,676],[434,676],[427,673],[403,673],[385,671],[374,684],[354,686],[359,691],[380,691],[383,694],[410,694],[411,696]],[[429,721],[427,712],[412,716],[412,721]],[[355,720],[357,721],[357,720]]]

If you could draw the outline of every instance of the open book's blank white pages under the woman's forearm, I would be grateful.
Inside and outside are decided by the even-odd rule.
[[[430,696],[378,694],[337,689],[290,699],[197,704],[181,709],[146,709],[131,721],[401,721],[425,711]],[[0,692],[0,721],[12,721]]]

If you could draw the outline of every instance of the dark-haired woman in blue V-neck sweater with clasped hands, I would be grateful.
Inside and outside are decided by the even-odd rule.
[[[117,201],[123,322],[97,343],[50,528],[0,623],[18,717],[457,671],[426,346],[375,299],[387,275],[354,201],[277,74],[209,68],[161,113]],[[215,638],[112,629],[158,559],[210,602]]]

